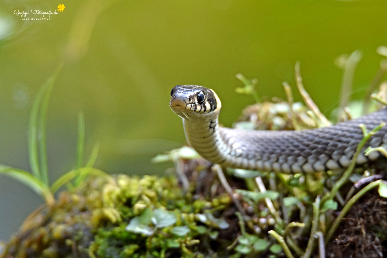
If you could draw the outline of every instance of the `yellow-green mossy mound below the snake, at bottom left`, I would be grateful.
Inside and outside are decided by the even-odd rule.
[[[231,244],[217,239],[208,249],[214,232],[218,235],[228,227],[219,217],[229,205],[224,194],[195,200],[173,177],[89,179],[76,190],[61,193],[50,210],[30,217],[0,257],[204,257]],[[130,221],[146,212],[149,220],[142,226],[152,233],[129,232]],[[209,212],[214,215],[206,215],[202,222],[198,214]]]

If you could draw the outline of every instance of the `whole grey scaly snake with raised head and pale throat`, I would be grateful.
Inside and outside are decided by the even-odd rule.
[[[221,101],[216,93],[202,86],[177,85],[171,90],[171,109],[183,118],[188,143],[205,159],[224,167],[312,173],[348,167],[363,138],[359,127],[372,130],[387,123],[387,108],[360,118],[323,128],[300,131],[241,130],[220,127]],[[387,126],[366,143],[387,148]],[[365,156],[357,165],[380,160],[380,152]]]

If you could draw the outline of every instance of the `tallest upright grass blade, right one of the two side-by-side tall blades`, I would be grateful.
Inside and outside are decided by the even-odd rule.
[[[58,65],[57,69],[51,75],[46,83],[46,91],[43,97],[43,103],[41,104],[40,112],[38,114],[38,130],[41,133],[41,137],[38,139],[39,144],[39,158],[40,158],[40,176],[41,180],[45,185],[49,185],[48,179],[48,164],[47,164],[47,145],[46,145],[46,121],[48,103],[50,101],[51,91],[53,89],[55,80],[57,79],[58,73],[62,68],[62,64]]]

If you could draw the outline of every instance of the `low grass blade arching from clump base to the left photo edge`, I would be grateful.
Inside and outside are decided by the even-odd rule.
[[[54,196],[47,188],[47,186],[38,178],[33,176],[33,174],[22,169],[15,169],[13,167],[3,165],[0,165],[0,174],[4,174],[6,176],[14,178],[17,181],[20,181],[24,185],[28,186],[38,195],[42,196],[49,206],[52,206],[55,203]]]

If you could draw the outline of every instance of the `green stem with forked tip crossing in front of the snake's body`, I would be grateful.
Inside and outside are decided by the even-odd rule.
[[[359,125],[359,127],[361,128],[361,130],[363,131],[363,139],[361,139],[360,143],[358,144],[358,147],[356,148],[356,152],[353,154],[353,157],[352,157],[352,161],[351,163],[349,164],[348,168],[346,169],[346,171],[342,174],[341,178],[339,180],[337,180],[337,182],[333,185],[332,189],[330,190],[329,193],[327,193],[321,200],[321,203],[324,205],[324,202],[329,200],[329,199],[332,199],[337,191],[339,191],[339,189],[341,188],[341,186],[348,180],[349,176],[351,176],[352,174],[352,171],[354,169],[354,167],[356,166],[356,159],[358,158],[360,152],[361,152],[361,149],[364,147],[364,145],[366,144],[366,142],[368,141],[368,139],[373,135],[375,134],[375,132],[377,132],[378,130],[380,130],[380,128],[382,128],[385,124],[384,123],[380,123],[380,125],[376,126],[375,128],[373,128],[370,132],[366,132],[366,128],[365,128],[365,125],[361,124]]]

